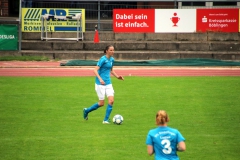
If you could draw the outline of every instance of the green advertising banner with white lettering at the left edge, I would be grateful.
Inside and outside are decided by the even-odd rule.
[[[0,25],[0,50],[18,50],[17,25]]]

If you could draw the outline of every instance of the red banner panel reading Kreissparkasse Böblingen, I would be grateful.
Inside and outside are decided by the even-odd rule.
[[[197,9],[197,32],[238,32],[239,9]]]

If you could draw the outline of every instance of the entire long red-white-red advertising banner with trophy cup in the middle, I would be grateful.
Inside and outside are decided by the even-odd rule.
[[[240,32],[240,10],[114,9],[114,32]]]

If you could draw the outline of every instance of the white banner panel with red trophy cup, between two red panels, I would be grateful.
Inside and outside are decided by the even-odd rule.
[[[155,33],[195,32],[196,9],[156,9]]]

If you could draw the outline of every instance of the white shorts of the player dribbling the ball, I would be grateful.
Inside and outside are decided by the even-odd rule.
[[[114,90],[112,84],[108,85],[97,85],[95,83],[95,90],[97,92],[99,100],[104,100],[105,96],[114,96]]]

